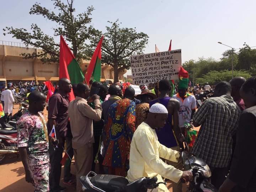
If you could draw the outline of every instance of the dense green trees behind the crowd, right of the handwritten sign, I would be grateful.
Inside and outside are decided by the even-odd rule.
[[[216,84],[220,80],[229,81],[232,78],[232,50],[226,50],[218,61],[213,58],[199,58],[183,63],[183,68],[190,74],[190,81],[194,83],[209,82]],[[248,45],[234,52],[234,77],[256,75],[256,49]]]

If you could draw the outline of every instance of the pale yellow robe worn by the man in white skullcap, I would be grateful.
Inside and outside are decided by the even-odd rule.
[[[177,162],[179,156],[178,151],[160,144],[155,130],[143,122],[133,134],[127,178],[129,181],[134,181],[140,177],[156,176],[158,182],[163,182],[163,176],[177,183],[182,176],[182,171],[167,165],[159,157]],[[158,192],[168,191],[165,185],[159,185]]]

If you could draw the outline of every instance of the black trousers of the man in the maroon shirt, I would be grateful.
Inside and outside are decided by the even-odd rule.
[[[65,143],[65,138],[63,139],[63,147]],[[62,160],[62,153],[63,153],[63,148],[62,146],[58,146],[58,148],[53,148],[52,142],[50,141],[49,138],[49,154],[50,154],[50,174],[49,174],[49,185],[50,185],[50,190],[58,190],[59,188],[59,182],[60,182],[60,175],[61,175],[61,170],[62,170],[62,164],[60,161]]]

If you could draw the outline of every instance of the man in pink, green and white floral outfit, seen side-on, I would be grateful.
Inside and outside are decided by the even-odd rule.
[[[29,107],[17,122],[18,149],[25,168],[26,181],[34,191],[49,191],[49,153],[46,121],[40,113],[46,106],[42,92],[33,91],[28,96]]]

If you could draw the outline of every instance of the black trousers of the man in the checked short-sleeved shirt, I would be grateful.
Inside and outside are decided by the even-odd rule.
[[[226,179],[226,175],[228,174],[228,167],[210,167],[212,172],[212,176],[210,178],[211,183],[219,189],[222,183]]]

